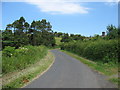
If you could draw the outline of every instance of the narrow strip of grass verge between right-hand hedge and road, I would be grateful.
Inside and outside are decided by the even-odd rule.
[[[83,57],[80,57],[74,53],[61,50],[62,52],[76,58],[77,60],[80,60],[82,63],[88,65],[93,70],[97,71],[100,74],[104,74],[108,76],[108,79],[113,82],[114,84],[119,84],[120,78],[118,78],[118,66],[117,65],[110,65],[110,64],[103,64],[101,62],[94,62],[88,59],[85,59]]]

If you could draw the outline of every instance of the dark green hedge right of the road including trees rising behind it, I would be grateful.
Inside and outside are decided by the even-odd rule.
[[[70,37],[72,39],[74,37],[75,41],[62,43],[61,49],[71,51],[94,61],[118,63],[119,32],[120,29],[111,25],[107,26],[106,36],[95,35],[94,37],[83,37],[71,34]]]

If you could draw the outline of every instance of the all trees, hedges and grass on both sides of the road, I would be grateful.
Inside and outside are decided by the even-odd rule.
[[[107,35],[103,32],[102,36],[86,37],[53,32],[52,25],[46,19],[28,23],[24,17],[20,17],[0,32],[3,87],[22,87],[45,71],[54,59],[49,50],[55,48],[61,48],[105,75],[118,74],[120,29],[113,25],[107,26]],[[116,77],[110,80],[119,82]]]

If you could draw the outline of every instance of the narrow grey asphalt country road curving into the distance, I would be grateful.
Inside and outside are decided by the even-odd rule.
[[[79,60],[52,50],[55,62],[41,77],[25,88],[114,88],[115,85],[105,80],[105,76],[91,70]]]

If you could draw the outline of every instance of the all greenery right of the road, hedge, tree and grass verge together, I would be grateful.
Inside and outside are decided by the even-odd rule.
[[[81,40],[71,40],[71,37],[68,36],[68,38],[66,38],[67,40],[64,38],[64,43],[61,44],[61,50],[66,50],[83,57],[79,58],[72,54],[72,56],[78,58],[95,70],[108,76],[115,76],[111,77],[111,81],[118,83],[119,33],[120,30],[118,28],[110,25],[107,27],[106,36],[95,35],[94,37]]]

